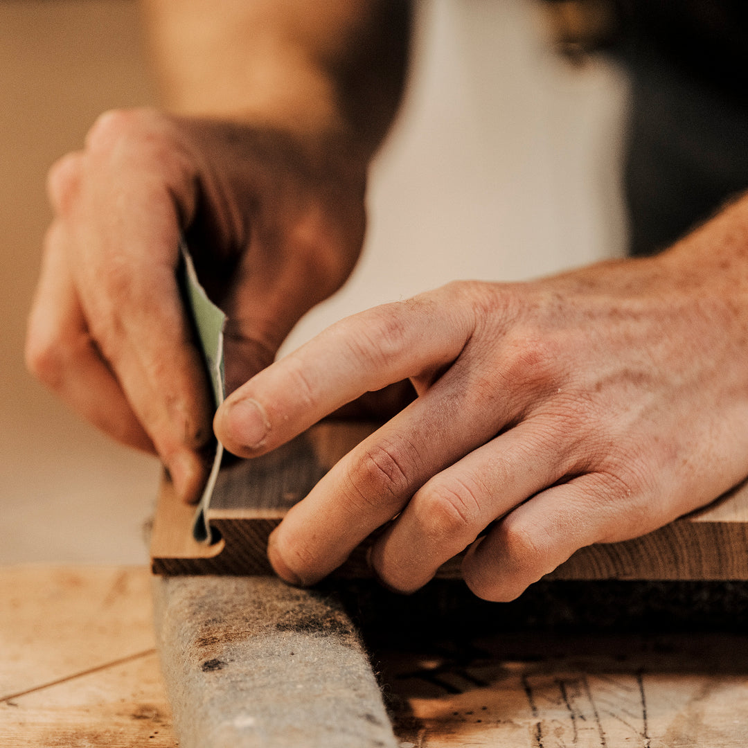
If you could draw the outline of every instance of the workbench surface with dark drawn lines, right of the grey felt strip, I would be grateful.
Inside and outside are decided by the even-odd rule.
[[[505,634],[380,665],[403,748],[738,748],[747,643]]]

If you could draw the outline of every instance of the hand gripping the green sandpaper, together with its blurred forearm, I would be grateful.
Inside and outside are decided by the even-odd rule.
[[[144,2],[171,112],[115,111],[49,175],[55,221],[28,367],[195,498],[209,388],[174,271],[180,232],[229,317],[227,387],[269,364],[361,251],[371,156],[402,91],[398,0]]]

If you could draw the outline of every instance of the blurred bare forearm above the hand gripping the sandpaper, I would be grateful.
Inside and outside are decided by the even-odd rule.
[[[367,159],[395,114],[405,1],[142,2],[171,111],[340,138]]]

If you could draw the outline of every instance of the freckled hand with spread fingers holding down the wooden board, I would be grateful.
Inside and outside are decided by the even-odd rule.
[[[418,398],[289,512],[270,560],[314,583],[388,525],[371,556],[388,586],[413,591],[470,547],[470,588],[509,600],[748,474],[747,299],[744,199],[654,259],[344,319],[236,390],[215,429],[257,456],[410,377]]]

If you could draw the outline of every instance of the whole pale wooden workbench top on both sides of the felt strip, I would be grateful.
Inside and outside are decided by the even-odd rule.
[[[174,747],[144,568],[0,569],[0,745]],[[732,748],[748,638],[500,634],[375,655],[402,748]]]

